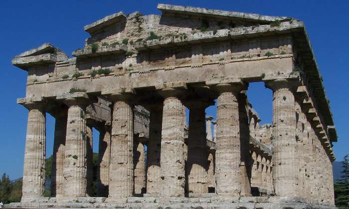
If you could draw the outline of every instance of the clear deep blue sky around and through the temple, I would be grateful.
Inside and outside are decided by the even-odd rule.
[[[158,3],[212,9],[291,16],[305,22],[331,101],[339,142],[337,160],[348,151],[348,34],[349,1],[338,0],[0,0],[0,174],[10,179],[22,176],[27,109],[16,104],[25,97],[27,72],[11,66],[11,59],[45,42],[69,56],[83,48],[89,37],[83,26],[109,14],[141,11],[161,14]],[[248,97],[262,123],[271,123],[272,92],[261,83],[250,84]],[[207,114],[215,115],[210,107]],[[47,155],[52,154],[54,119],[47,116]],[[95,131],[97,132],[97,131]],[[97,137],[97,134],[94,134]],[[97,140],[94,140],[97,141]],[[97,151],[97,144],[94,143]],[[97,149],[97,150],[96,150]]]

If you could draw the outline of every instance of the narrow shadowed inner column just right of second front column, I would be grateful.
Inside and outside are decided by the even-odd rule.
[[[87,149],[87,195],[92,197],[93,184],[93,132],[92,126],[86,125],[86,149]]]

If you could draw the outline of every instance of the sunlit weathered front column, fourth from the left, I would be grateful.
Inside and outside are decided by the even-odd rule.
[[[184,197],[184,112],[183,104],[177,98],[179,90],[161,90],[165,98],[163,108],[160,196]]]

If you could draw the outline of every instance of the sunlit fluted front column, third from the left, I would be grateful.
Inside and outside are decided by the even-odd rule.
[[[113,94],[112,136],[109,165],[109,198],[133,195],[133,104],[128,94]]]

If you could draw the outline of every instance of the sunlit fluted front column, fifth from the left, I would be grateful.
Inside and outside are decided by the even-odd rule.
[[[240,173],[240,127],[238,94],[241,84],[218,84],[217,140],[216,140],[216,193],[221,196],[239,196]]]

